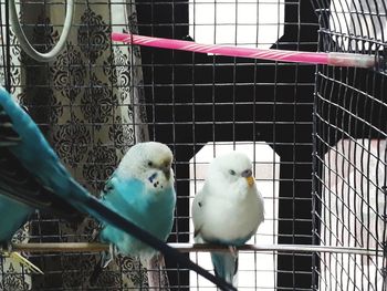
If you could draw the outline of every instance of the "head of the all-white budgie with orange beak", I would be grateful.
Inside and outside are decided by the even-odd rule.
[[[252,187],[255,181],[250,158],[238,152],[231,152],[215,158],[210,165],[207,179],[215,179],[224,185],[238,184],[248,187]]]

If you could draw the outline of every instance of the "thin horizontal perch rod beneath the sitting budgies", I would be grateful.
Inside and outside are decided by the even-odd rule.
[[[227,247],[209,243],[169,243],[170,247],[181,252],[209,252],[228,251]],[[100,252],[108,250],[108,245],[95,242],[39,242],[39,243],[12,243],[13,251],[29,252]],[[383,257],[383,249],[366,249],[336,246],[312,245],[245,245],[239,247],[240,251],[280,251],[280,252],[330,252],[351,253],[362,256]]]

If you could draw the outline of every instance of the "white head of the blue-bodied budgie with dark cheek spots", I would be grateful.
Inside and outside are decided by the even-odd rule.
[[[121,176],[138,178],[140,180],[160,179],[174,181],[171,169],[174,156],[168,146],[147,142],[138,143],[129,148],[119,163],[118,170]]]

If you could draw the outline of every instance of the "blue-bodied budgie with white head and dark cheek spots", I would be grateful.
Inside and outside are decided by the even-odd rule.
[[[101,201],[166,241],[172,229],[176,205],[172,158],[169,147],[164,144],[134,145],[107,180]],[[144,263],[156,254],[155,249],[111,225],[102,225],[100,239],[119,253],[139,257]],[[101,268],[107,266],[112,259],[109,254],[102,258]],[[100,268],[94,271],[92,282],[100,271]]]

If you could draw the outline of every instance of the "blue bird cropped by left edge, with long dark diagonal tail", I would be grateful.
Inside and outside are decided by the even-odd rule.
[[[159,162],[156,160],[156,163]],[[127,163],[125,164],[128,166]],[[161,165],[156,164],[156,166]],[[117,173],[121,173],[121,170]],[[167,177],[166,174],[164,175]],[[122,176],[115,175],[113,178],[112,185],[116,186],[115,181]],[[150,178],[155,181],[156,186],[154,185],[154,187],[166,187],[166,184],[158,176]],[[121,191],[122,187],[125,187],[125,183],[121,184],[117,189]],[[143,188],[138,185],[135,189],[140,190]],[[234,290],[230,284],[218,280],[160,239],[149,236],[147,229],[137,227],[130,220],[117,214],[117,209],[111,209],[108,202],[103,204],[90,195],[85,188],[73,179],[38,125],[3,87],[0,87],[0,201],[1,195],[30,207],[17,204],[10,205],[8,204],[9,200],[4,199],[4,207],[14,207],[14,212],[20,214],[20,216],[14,217],[14,221],[11,218],[1,221],[7,228],[11,225],[15,229],[17,226],[22,225],[23,220],[32,214],[32,209],[54,210],[70,217],[79,217],[80,212],[81,215],[91,215],[106,226],[114,226],[129,233],[130,236],[125,236],[126,239],[132,236],[136,237],[170,259],[176,260],[182,267],[195,270],[226,290]],[[113,202],[116,198],[112,199]],[[137,206],[135,205],[132,208]],[[1,225],[0,228],[6,230]],[[7,231],[4,233],[7,235]],[[113,231],[113,233],[117,237],[121,236],[119,231]],[[2,242],[8,243],[9,241]]]

